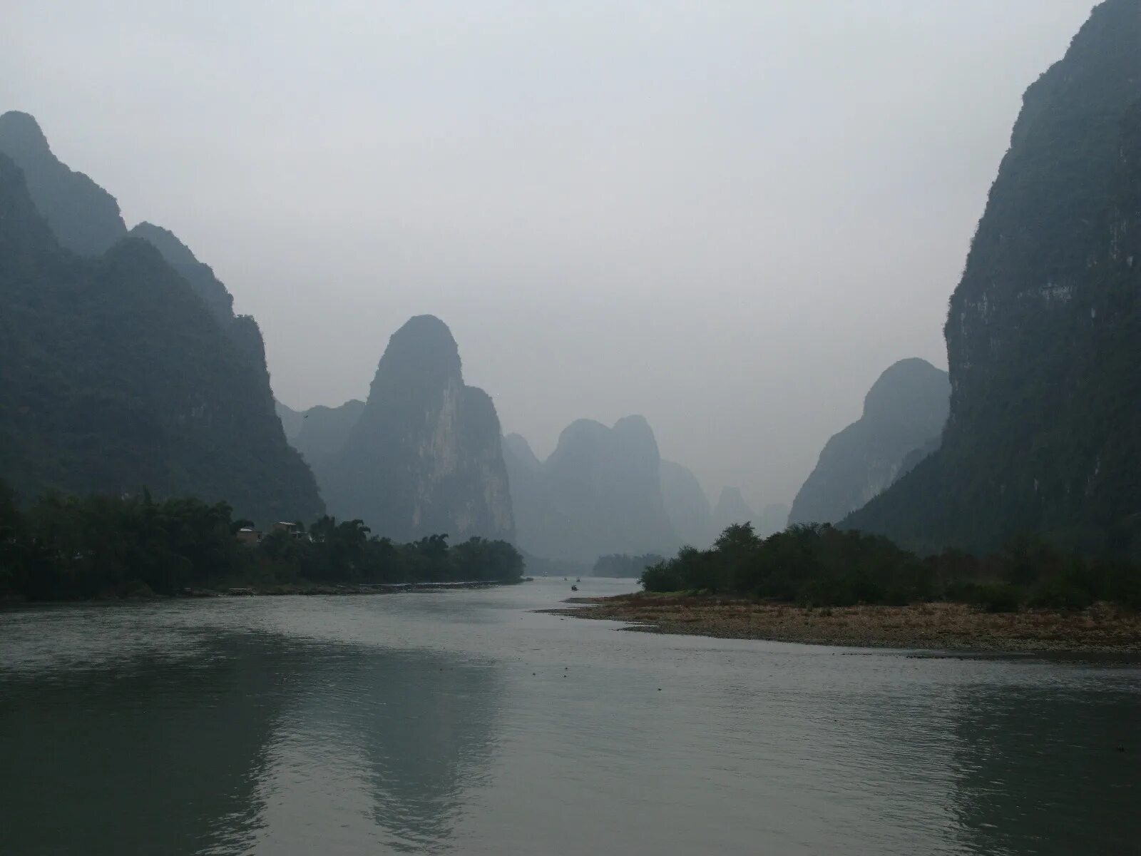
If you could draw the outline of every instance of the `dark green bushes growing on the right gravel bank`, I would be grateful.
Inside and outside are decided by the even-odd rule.
[[[790,526],[760,538],[729,526],[709,550],[682,549],[641,575],[647,591],[706,591],[804,606],[952,600],[987,612],[1022,606],[1081,609],[1095,600],[1141,606],[1141,565],[1104,564],[1035,538],[987,558],[958,550],[920,558],[879,535],[828,524]]]

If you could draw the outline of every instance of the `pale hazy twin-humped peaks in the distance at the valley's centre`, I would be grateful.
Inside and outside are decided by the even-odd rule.
[[[542,463],[517,435],[504,441],[519,546],[535,556],[592,564],[610,554],[679,546],[662,499],[661,457],[642,417],[613,428],[580,419]]]

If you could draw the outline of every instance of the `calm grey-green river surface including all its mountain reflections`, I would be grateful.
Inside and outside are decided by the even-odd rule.
[[[1136,667],[531,612],[568,588],[0,613],[0,851],[1141,851]]]

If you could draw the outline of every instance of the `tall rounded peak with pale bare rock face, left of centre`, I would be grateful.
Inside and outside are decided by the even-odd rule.
[[[464,386],[455,340],[430,315],[393,333],[369,401],[318,477],[333,514],[395,541],[515,536],[495,406]]]

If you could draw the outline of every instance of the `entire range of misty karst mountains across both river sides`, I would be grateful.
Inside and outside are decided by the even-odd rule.
[[[464,381],[431,315],[378,345],[365,401],[275,402],[258,324],[213,269],[162,226],[128,228],[31,115],[5,113],[0,478],[23,496],[226,500],[261,523],[327,509],[394,540],[504,539],[574,563],[705,547],[746,522],[832,523],[921,551],[1035,533],[1135,555],[1139,45],[1136,1],[1107,0],[1026,91],[950,298],[949,372],[892,364],[791,509],[760,511],[735,486],[711,503],[641,415],[575,420],[540,459],[503,436],[495,390]]]

